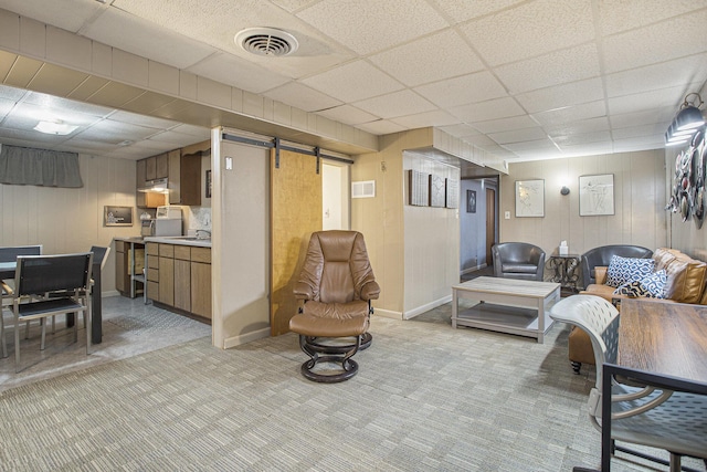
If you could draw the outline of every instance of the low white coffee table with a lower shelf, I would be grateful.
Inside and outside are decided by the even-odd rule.
[[[478,303],[460,312],[460,298]],[[559,300],[559,283],[477,277],[452,286],[452,327],[535,337],[542,344],[553,323],[550,308]]]

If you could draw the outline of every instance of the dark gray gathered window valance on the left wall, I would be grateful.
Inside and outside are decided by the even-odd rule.
[[[2,145],[0,183],[80,188],[78,155]]]

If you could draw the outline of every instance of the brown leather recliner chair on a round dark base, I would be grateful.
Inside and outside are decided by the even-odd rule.
[[[371,300],[380,295],[363,234],[338,230],[313,233],[294,293],[303,304],[289,321],[289,329],[299,334],[299,346],[310,357],[302,365],[302,374],[320,382],[354,377],[358,364],[351,357],[362,344],[370,344]],[[352,343],[331,339],[347,337],[352,337]],[[317,363],[340,364],[341,371],[314,371]]]

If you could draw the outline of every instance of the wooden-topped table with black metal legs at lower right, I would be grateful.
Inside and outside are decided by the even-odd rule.
[[[604,379],[624,376],[672,391],[707,396],[707,306],[623,300],[620,316],[619,357],[615,365],[604,364]],[[602,385],[603,411],[611,411],[611,385]],[[604,472],[610,471],[611,454],[611,415],[604,415]]]

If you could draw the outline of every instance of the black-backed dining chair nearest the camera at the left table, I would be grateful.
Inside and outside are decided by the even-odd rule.
[[[14,287],[3,282],[3,290],[11,296],[14,317],[14,363],[20,370],[20,322],[40,319],[44,349],[45,318],[70,313],[83,313],[86,324],[86,355],[91,349],[91,270],[93,253],[57,255],[20,255],[14,276]],[[49,293],[62,293],[50,297]],[[78,340],[78,324],[74,324],[74,343]]]

